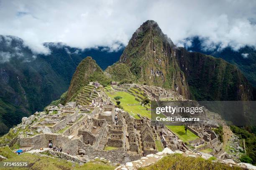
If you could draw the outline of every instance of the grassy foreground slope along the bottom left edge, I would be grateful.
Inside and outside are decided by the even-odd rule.
[[[5,170],[114,170],[116,167],[111,166],[108,161],[93,160],[79,166],[78,163],[72,163],[67,160],[50,158],[36,154],[24,153],[16,157],[3,160],[0,162],[28,162],[28,167],[10,167]]]

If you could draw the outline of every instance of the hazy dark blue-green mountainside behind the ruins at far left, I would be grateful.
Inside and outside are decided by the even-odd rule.
[[[122,49],[81,50],[62,43],[44,43],[49,55],[35,55],[22,39],[0,35],[0,135],[68,90],[79,62],[92,55],[102,69],[118,61]]]

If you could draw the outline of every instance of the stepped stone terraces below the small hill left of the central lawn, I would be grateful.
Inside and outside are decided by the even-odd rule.
[[[91,105],[92,100],[98,97],[98,93],[93,85],[86,85],[77,95],[76,101],[78,105]]]

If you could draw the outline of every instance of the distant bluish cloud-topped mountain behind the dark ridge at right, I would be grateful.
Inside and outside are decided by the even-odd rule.
[[[236,65],[243,72],[247,80],[256,87],[256,50],[254,47],[245,46],[235,51],[231,47],[219,50],[220,47],[216,45],[216,48],[212,50],[204,47],[204,39],[193,37],[187,40],[192,42],[192,46],[188,47],[187,50],[222,58]]]

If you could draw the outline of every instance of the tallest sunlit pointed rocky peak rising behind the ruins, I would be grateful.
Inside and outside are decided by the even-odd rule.
[[[157,23],[148,20],[133,33],[119,62],[128,65],[139,82],[172,89],[189,98],[187,80],[173,47]]]

